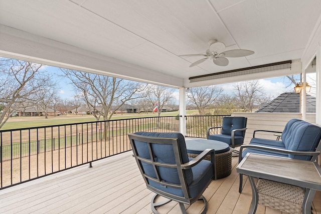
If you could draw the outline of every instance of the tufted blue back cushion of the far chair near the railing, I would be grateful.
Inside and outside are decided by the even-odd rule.
[[[232,130],[246,127],[246,117],[223,117],[222,134],[231,135]],[[245,131],[235,132],[235,136],[244,137]]]

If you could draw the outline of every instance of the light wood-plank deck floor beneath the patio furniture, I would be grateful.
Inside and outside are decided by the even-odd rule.
[[[247,213],[252,193],[246,181],[238,193],[237,158],[232,159],[232,174],[212,181],[204,196],[207,213]],[[66,170],[0,191],[0,213],[152,213],[150,199],[131,152]],[[199,213],[201,202],[188,207]],[[177,203],[160,207],[161,213],[180,213]],[[280,213],[259,205],[256,213]],[[313,213],[321,214],[321,192],[313,201]]]

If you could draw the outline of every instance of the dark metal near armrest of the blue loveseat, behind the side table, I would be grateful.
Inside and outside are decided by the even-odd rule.
[[[277,151],[282,152],[286,154],[294,154],[294,155],[310,155],[312,156],[311,161],[315,161],[317,156],[320,154],[319,151],[293,151],[293,150],[287,150],[287,149],[278,149],[278,148],[272,148],[267,146],[259,146],[259,145],[242,145],[240,147],[240,155],[239,155],[239,162],[242,160],[242,152],[243,148],[256,148],[256,149],[262,149],[262,150],[268,150],[268,151]]]

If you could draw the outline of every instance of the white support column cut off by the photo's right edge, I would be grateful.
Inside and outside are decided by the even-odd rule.
[[[315,123],[321,125],[321,41],[316,49],[316,102]]]

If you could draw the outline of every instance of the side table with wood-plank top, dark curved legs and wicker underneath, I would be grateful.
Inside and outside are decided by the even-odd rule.
[[[300,213],[297,204],[301,202],[302,213],[311,213],[315,192],[321,190],[321,167],[315,161],[247,153],[236,172],[248,176],[252,188],[248,213],[252,214],[256,212],[258,203]],[[253,177],[259,178],[257,184]]]

